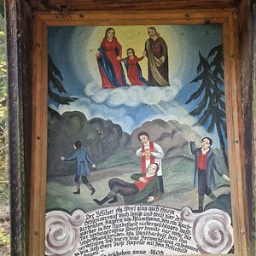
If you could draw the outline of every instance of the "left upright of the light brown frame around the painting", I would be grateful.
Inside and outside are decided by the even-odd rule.
[[[44,255],[47,166],[47,26],[34,17],[32,49],[32,171],[29,255]]]

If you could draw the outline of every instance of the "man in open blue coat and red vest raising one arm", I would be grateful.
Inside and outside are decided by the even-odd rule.
[[[201,139],[201,148],[195,147],[195,133],[191,133],[190,137],[191,153],[195,155],[195,177],[194,186],[198,186],[198,211],[203,211],[204,196],[208,195],[212,200],[216,200],[216,196],[212,194],[212,189],[216,186],[214,171],[225,180],[230,181],[218,165],[217,155],[212,151],[212,139],[203,137]]]

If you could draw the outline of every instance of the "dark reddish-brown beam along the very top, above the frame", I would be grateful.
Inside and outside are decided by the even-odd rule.
[[[65,12],[65,9],[71,11],[79,10],[124,10],[126,13],[131,13],[133,11],[141,10],[166,10],[166,9],[224,9],[224,8],[234,8],[236,7],[236,0],[49,0],[49,1],[39,1],[32,0],[29,1],[32,9],[47,10],[47,11],[57,11]]]

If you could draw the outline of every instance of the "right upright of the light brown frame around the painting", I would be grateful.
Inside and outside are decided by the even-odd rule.
[[[234,15],[236,17],[236,15]],[[224,22],[224,84],[235,253],[251,255],[248,242],[245,148],[241,122],[241,80],[234,16]]]

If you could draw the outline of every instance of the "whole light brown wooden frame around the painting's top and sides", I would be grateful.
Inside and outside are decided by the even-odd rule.
[[[239,56],[233,9],[201,12],[141,11],[73,12],[68,15],[37,12],[34,17],[32,52],[32,180],[29,255],[44,255],[44,225],[47,156],[47,26],[96,26],[143,24],[221,23],[224,38],[224,78],[235,254],[250,255],[248,249],[247,199],[245,192],[244,142],[241,126]],[[241,210],[242,209],[242,210]],[[230,254],[232,255],[232,254]]]

